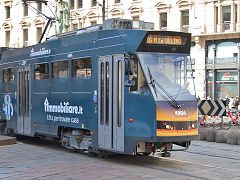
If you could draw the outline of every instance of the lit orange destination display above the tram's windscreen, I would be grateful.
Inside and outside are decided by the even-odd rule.
[[[182,36],[149,35],[147,44],[154,45],[186,45],[187,38]]]

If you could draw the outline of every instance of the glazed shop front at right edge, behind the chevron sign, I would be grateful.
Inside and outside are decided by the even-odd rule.
[[[239,96],[239,39],[206,41],[206,97]]]

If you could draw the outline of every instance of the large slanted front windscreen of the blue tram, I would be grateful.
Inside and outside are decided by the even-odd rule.
[[[137,56],[156,101],[195,100],[193,77],[187,77],[188,55],[138,53]]]

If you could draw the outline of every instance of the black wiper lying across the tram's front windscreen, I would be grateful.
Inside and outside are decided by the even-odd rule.
[[[150,77],[149,84],[152,85],[156,96],[157,96],[156,90],[158,90],[159,94],[163,97],[164,100],[166,100],[166,102],[168,102],[172,107],[179,109],[181,106],[177,103],[177,101],[157,81],[155,81],[155,79],[153,79],[153,76],[151,71],[149,70],[149,67],[148,67],[148,74]],[[160,88],[161,91],[156,88],[155,84]]]

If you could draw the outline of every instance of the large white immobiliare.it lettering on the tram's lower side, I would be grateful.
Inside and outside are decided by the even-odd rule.
[[[59,105],[50,105],[48,99],[44,102],[44,111],[53,113],[83,114],[82,106],[70,106],[69,102],[60,102]]]

